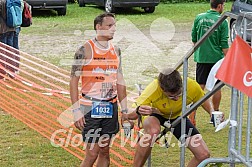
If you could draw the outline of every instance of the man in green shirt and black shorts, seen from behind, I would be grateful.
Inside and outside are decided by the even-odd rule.
[[[210,0],[211,9],[196,16],[192,27],[192,42],[195,44],[214,25],[224,10],[225,0]],[[220,26],[200,45],[194,53],[196,67],[196,81],[204,90],[207,77],[214,64],[222,59],[228,51],[228,21]],[[214,110],[219,110],[221,90],[213,97]]]

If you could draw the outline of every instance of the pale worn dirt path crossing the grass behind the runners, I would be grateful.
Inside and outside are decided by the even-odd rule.
[[[173,67],[192,47],[189,23],[175,24],[175,34],[166,42],[153,39],[149,30],[117,33],[121,36],[115,36],[114,43],[122,49],[125,78],[131,86],[147,84],[162,68]],[[76,49],[91,37],[87,34],[83,38],[76,32],[53,36],[21,33],[20,49],[69,70],[71,66],[62,62],[70,62]]]

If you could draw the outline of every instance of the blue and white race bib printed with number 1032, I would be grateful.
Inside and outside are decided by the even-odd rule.
[[[91,118],[112,118],[113,104],[110,102],[92,102]]]

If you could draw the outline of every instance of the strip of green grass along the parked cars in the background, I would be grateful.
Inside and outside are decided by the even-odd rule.
[[[231,3],[226,3],[225,9],[230,10]],[[117,20],[129,19],[138,28],[146,28],[159,17],[165,17],[175,23],[192,23],[194,17],[208,10],[208,3],[160,4],[153,14],[146,14],[143,9],[119,9]],[[93,29],[93,19],[104,12],[103,8],[89,5],[80,8],[77,4],[69,4],[67,15],[58,17],[55,11],[35,11],[33,25],[23,28],[22,33],[58,34],[73,33],[74,30]]]

